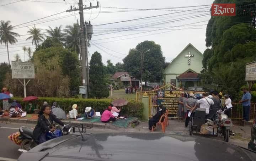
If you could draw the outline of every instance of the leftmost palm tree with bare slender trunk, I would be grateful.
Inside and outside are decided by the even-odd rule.
[[[4,43],[7,47],[8,62],[10,64],[8,43],[15,44],[18,40],[16,36],[20,36],[18,33],[12,32],[13,27],[10,25],[11,21],[0,21],[0,44]]]

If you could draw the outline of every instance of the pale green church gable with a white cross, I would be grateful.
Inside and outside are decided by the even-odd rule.
[[[188,69],[197,73],[202,71],[203,55],[192,44],[188,44],[180,54],[165,68],[165,74],[181,74]]]

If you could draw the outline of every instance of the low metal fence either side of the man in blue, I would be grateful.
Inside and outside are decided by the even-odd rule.
[[[231,119],[233,120],[242,120],[243,119],[243,108],[240,103],[232,103],[232,115]],[[256,118],[256,104],[251,104],[250,108],[250,120],[254,120]]]

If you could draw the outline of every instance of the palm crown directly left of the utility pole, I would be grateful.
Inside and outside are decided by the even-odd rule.
[[[66,26],[66,47],[70,48],[77,53],[79,53],[79,33],[78,33],[78,24],[74,23],[72,25]]]

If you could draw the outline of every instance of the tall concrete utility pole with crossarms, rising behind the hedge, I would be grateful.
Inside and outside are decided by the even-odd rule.
[[[88,98],[89,91],[89,62],[88,62],[88,51],[87,51],[87,30],[86,30],[86,22],[84,22],[84,10],[95,9],[100,7],[97,2],[97,6],[92,6],[90,3],[89,7],[84,7],[82,0],[79,0],[79,9],[72,9],[70,6],[70,10],[66,12],[79,11],[80,15],[80,29],[82,29],[82,34],[80,34],[80,48],[82,55],[82,85],[87,88],[87,93],[83,94],[83,98]]]

